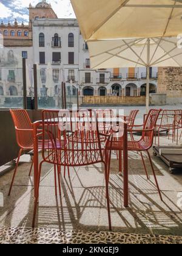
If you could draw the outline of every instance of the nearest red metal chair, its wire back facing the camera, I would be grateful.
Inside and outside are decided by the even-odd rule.
[[[62,148],[56,146],[56,134],[60,133]],[[109,188],[107,182],[107,160],[106,150],[101,148],[99,138],[98,122],[95,112],[88,110],[44,110],[42,112],[42,162],[39,165],[39,180],[41,176],[42,163],[52,163],[57,166],[87,166],[95,163],[103,163],[106,179],[106,198],[111,229]],[[101,134],[104,136],[104,134]],[[107,138],[110,135],[105,135]],[[47,139],[51,148],[45,151],[44,140]],[[106,145],[109,140],[106,141]],[[61,194],[61,183],[58,171],[59,194]],[[35,206],[33,212],[32,226],[35,226],[36,208],[39,194],[39,182],[36,188]]]

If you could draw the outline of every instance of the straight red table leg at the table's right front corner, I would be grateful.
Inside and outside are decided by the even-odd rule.
[[[123,135],[123,183],[124,183],[124,207],[129,206],[129,179],[128,179],[128,151],[127,151],[127,124],[124,124]]]

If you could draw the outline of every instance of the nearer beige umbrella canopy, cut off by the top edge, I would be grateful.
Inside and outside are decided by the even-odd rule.
[[[181,0],[71,0],[84,40],[181,33]]]

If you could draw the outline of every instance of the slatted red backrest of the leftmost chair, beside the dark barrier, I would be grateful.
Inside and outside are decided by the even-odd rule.
[[[16,130],[16,141],[23,149],[32,148],[33,127],[26,110],[10,110]],[[30,131],[32,130],[32,131]]]

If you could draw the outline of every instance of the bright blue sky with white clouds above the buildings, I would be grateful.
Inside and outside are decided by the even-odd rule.
[[[0,20],[6,24],[8,21],[13,23],[15,18],[18,23],[29,22],[29,4],[33,6],[41,2],[41,0],[0,0]],[[75,18],[72,5],[69,0],[47,0],[52,5],[53,10],[58,18]]]

